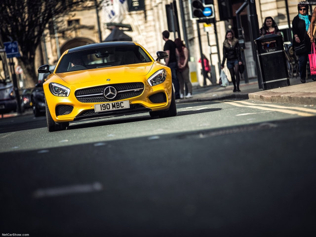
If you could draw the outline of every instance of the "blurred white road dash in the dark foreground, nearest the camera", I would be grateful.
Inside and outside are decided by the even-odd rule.
[[[78,184],[72,186],[39,189],[33,193],[34,198],[58,197],[69,194],[92,193],[103,190],[103,185],[99,182],[93,184]]]

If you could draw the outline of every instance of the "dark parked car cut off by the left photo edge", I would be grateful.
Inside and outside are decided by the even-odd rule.
[[[11,82],[0,80],[0,115],[16,112],[17,103]]]

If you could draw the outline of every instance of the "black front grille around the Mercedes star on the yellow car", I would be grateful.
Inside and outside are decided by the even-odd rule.
[[[104,89],[108,86],[113,86],[117,90],[117,96],[114,99],[107,99],[104,96]],[[144,83],[130,82],[79,89],[76,90],[75,96],[82,103],[100,103],[132,98],[141,95],[143,91]]]

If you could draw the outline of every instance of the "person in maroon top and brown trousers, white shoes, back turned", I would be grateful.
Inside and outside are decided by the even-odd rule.
[[[185,98],[191,98],[192,83],[189,76],[189,50],[179,38],[175,39],[174,43],[176,44],[176,55],[178,59],[177,78],[180,84],[180,99],[183,99],[184,97],[184,83],[186,83],[188,87],[188,94],[185,96]]]

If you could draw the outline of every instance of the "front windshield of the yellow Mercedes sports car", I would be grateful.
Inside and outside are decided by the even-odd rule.
[[[139,46],[116,46],[67,53],[61,59],[56,73],[152,62]]]

